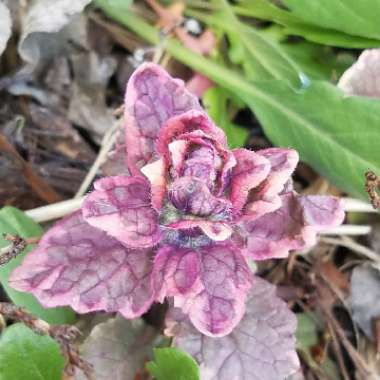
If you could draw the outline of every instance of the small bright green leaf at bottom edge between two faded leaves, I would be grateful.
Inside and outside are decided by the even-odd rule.
[[[199,380],[199,368],[195,360],[176,348],[156,348],[154,361],[147,364],[157,380]]]

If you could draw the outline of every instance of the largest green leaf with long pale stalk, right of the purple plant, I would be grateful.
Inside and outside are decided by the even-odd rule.
[[[104,8],[142,38],[159,42],[157,30],[136,14]],[[380,102],[345,97],[335,86],[311,82],[295,91],[280,81],[249,82],[245,77],[169,39],[167,51],[179,61],[250,105],[268,137],[279,146],[297,149],[301,159],[347,192],[366,199],[363,174],[380,172]]]

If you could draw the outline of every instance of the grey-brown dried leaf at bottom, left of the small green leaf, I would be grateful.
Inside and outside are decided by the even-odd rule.
[[[156,333],[140,319],[121,316],[97,325],[82,346],[82,356],[94,366],[96,380],[139,379],[152,357]],[[78,374],[76,380],[82,380]]]

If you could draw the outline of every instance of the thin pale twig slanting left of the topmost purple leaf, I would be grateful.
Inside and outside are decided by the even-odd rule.
[[[87,173],[86,178],[83,180],[81,186],[79,187],[79,190],[75,194],[75,199],[81,198],[83,194],[87,191],[92,180],[95,178],[98,169],[106,161],[108,153],[116,143],[119,130],[122,125],[123,118],[118,120],[104,135],[98,156],[96,157],[96,160],[94,161],[89,172]]]

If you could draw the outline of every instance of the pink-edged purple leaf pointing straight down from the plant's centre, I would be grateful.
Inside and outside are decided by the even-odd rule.
[[[199,331],[215,337],[229,334],[241,320],[251,273],[230,243],[166,246],[155,257],[153,282],[159,299],[174,297]]]

